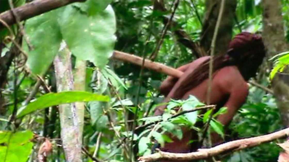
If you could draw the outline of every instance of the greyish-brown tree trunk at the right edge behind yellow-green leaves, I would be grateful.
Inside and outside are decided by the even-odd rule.
[[[284,36],[284,24],[281,15],[280,1],[263,0],[263,41],[267,56],[288,51],[288,43]],[[277,73],[272,80],[274,95],[282,117],[284,126],[289,126],[289,81],[288,74]]]

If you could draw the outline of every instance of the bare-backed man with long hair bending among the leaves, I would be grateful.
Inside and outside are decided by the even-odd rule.
[[[189,95],[194,95],[205,103],[207,95],[210,95],[208,104],[216,104],[217,108],[227,107],[227,113],[217,117],[217,120],[226,126],[245,102],[248,95],[247,81],[256,75],[264,56],[262,38],[256,34],[242,32],[230,42],[225,55],[214,56],[210,94],[207,94],[210,60],[207,56],[179,67],[178,70],[184,72],[179,79],[169,76],[162,82],[160,91],[166,96],[164,102],[170,99],[187,99]],[[165,106],[158,107],[155,115],[161,115],[164,109]],[[192,130],[183,129],[183,139],[173,137],[174,142],[166,143],[163,150],[191,152],[192,147],[188,143],[196,138]],[[215,134],[212,141],[219,142],[220,137]]]

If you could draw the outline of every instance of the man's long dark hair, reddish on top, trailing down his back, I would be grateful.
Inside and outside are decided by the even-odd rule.
[[[258,67],[265,56],[265,48],[261,36],[242,32],[237,34],[229,44],[225,55],[213,57],[213,73],[226,66],[236,65],[245,80],[255,76]],[[171,98],[178,99],[185,92],[199,85],[209,77],[210,58],[199,65],[186,76],[186,82],[181,84]]]

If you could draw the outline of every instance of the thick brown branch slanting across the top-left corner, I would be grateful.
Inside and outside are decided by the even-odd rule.
[[[19,21],[29,19],[33,16],[60,8],[74,2],[84,2],[86,0],[36,0],[20,7],[14,8],[13,12],[18,16]],[[0,14],[0,19],[5,21],[8,25],[16,23],[13,12],[11,10]],[[0,25],[2,26],[2,25]]]

